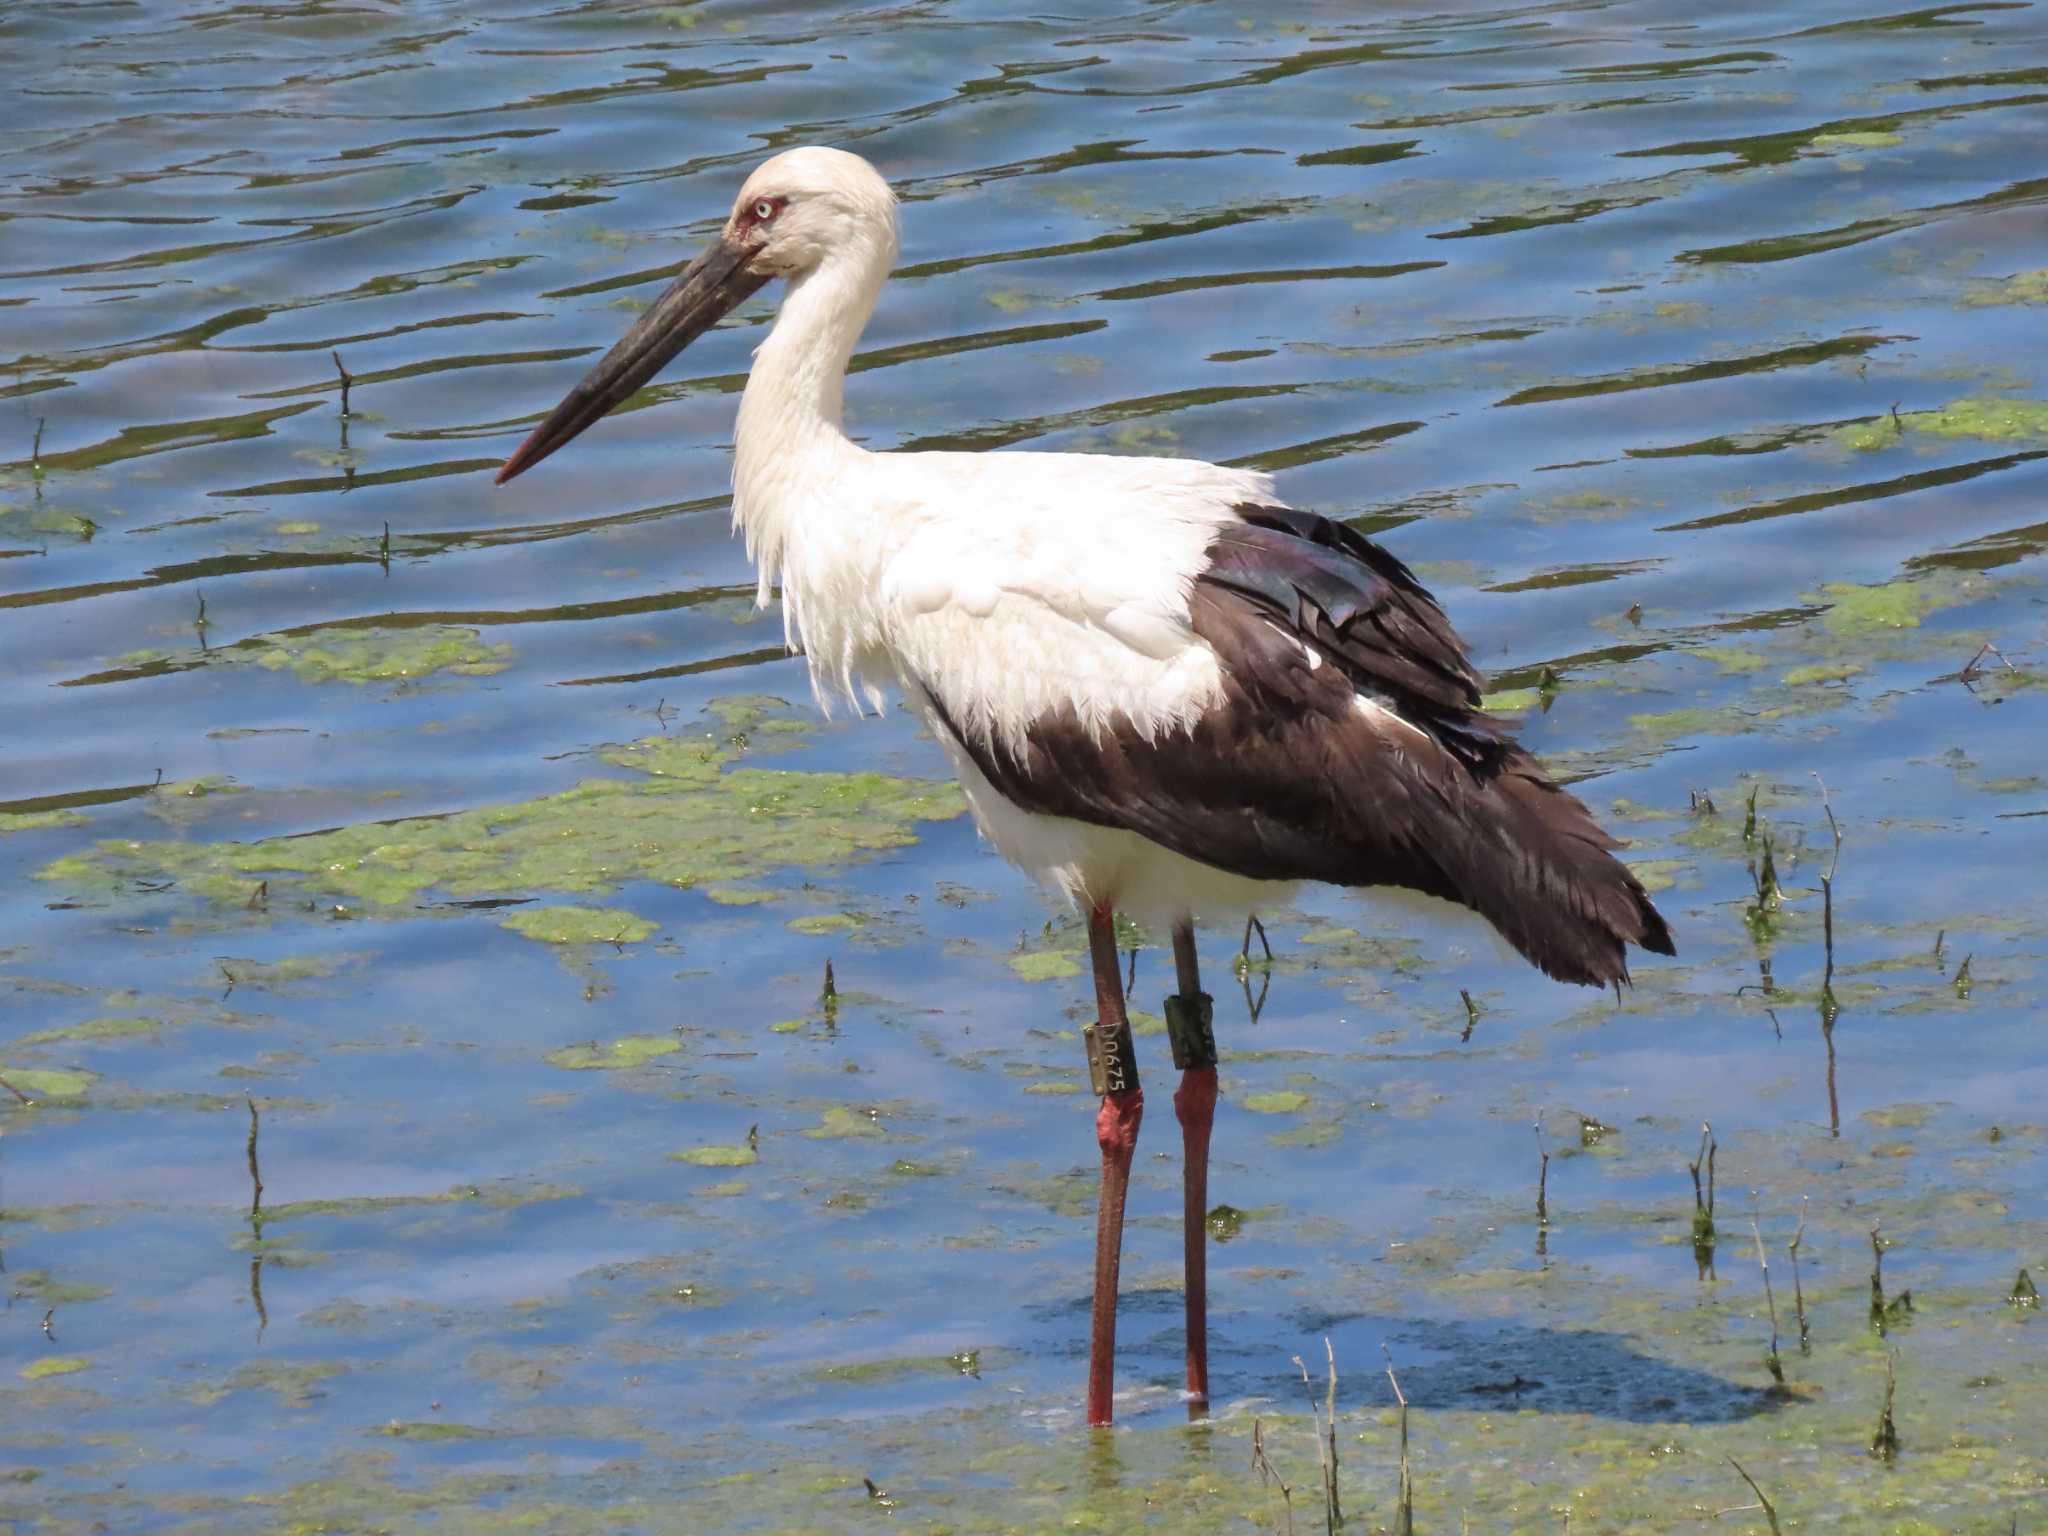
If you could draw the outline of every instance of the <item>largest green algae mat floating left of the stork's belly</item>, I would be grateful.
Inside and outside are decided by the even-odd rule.
[[[737,766],[739,754],[731,741],[653,737],[598,752],[635,778],[590,778],[537,801],[301,838],[104,840],[53,860],[39,879],[98,899],[170,881],[248,920],[266,915],[248,913],[248,903],[256,883],[268,881],[266,911],[326,899],[395,918],[412,915],[430,893],[594,895],[629,881],[723,887],[903,848],[918,840],[920,821],[965,811],[952,784]]]

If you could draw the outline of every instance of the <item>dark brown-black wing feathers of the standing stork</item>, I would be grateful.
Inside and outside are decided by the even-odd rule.
[[[1221,702],[1157,739],[1061,709],[1018,752],[934,698],[989,782],[1251,879],[1458,901],[1561,981],[1624,979],[1626,944],[1671,954],[1614,840],[1479,711],[1483,680],[1413,573],[1341,522],[1237,510],[1188,600]]]

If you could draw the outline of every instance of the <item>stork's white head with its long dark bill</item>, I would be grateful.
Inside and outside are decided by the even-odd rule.
[[[805,145],[764,162],[739,188],[719,238],[518,444],[498,483],[623,406],[770,279],[805,279],[834,258],[887,272],[895,254],[895,193],[866,160]]]

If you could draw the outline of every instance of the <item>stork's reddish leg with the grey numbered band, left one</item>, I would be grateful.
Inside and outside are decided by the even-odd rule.
[[[1106,1425],[1116,1384],[1116,1274],[1124,1257],[1124,1196],[1130,1188],[1130,1157],[1139,1147],[1139,1120],[1145,1118],[1145,1090],[1139,1087],[1130,1020],[1124,1016],[1124,981],[1116,967],[1116,915],[1108,907],[1090,907],[1087,948],[1096,963],[1096,1022],[1081,1030],[1081,1040],[1087,1044],[1087,1075],[1102,1096],[1096,1112],[1102,1202],[1096,1206],[1096,1305],[1087,1329],[1087,1421]]]

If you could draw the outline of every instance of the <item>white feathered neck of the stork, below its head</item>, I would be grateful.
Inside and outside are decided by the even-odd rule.
[[[821,481],[864,453],[840,426],[846,360],[893,256],[881,246],[846,246],[793,279],[754,352],[733,434],[733,526],[760,567],[764,606],[805,516],[829,504]]]

